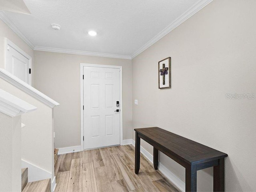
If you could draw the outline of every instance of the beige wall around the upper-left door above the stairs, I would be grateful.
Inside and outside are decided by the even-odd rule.
[[[8,38],[11,42],[21,48],[26,54],[32,57],[32,85],[34,77],[34,50],[28,46],[10,27],[8,27],[0,19],[0,68],[4,68],[4,38]]]

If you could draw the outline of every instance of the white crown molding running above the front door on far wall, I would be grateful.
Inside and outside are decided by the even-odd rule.
[[[34,50],[36,50],[36,51],[57,52],[57,53],[77,54],[77,55],[98,56],[98,57],[110,57],[110,58],[118,58],[118,59],[131,59],[131,57],[127,56],[127,55],[98,53],[98,52],[80,51],[80,50],[72,50],[72,49],[50,48],[50,47],[41,47],[41,46],[35,46]]]

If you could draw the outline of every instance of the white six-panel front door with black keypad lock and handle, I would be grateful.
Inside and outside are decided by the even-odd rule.
[[[119,71],[84,66],[84,149],[120,144]]]

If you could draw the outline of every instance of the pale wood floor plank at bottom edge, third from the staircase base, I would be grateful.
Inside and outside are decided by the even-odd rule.
[[[98,189],[92,162],[84,163],[82,169],[82,191],[97,192]]]

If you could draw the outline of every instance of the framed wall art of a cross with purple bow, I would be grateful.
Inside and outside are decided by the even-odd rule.
[[[165,58],[158,62],[158,88],[171,87],[171,58]]]

